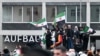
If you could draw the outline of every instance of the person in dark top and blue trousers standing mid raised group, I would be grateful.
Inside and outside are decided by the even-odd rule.
[[[67,46],[68,46],[68,49],[74,48],[73,37],[74,37],[74,31],[72,30],[71,25],[68,25],[68,29],[67,29],[67,44],[68,44]]]

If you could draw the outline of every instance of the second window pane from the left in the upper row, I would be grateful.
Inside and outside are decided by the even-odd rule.
[[[13,21],[22,22],[22,6],[14,6],[13,9]]]

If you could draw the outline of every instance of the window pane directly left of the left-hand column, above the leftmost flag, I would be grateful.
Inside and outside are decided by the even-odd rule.
[[[33,6],[33,21],[42,19],[42,6]]]

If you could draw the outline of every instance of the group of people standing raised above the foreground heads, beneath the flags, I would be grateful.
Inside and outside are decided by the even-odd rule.
[[[67,50],[75,49],[75,51],[87,50],[88,39],[90,34],[94,34],[95,31],[84,32],[84,27],[71,25],[52,25],[53,29],[46,28],[46,48],[52,49],[57,46],[64,46]]]

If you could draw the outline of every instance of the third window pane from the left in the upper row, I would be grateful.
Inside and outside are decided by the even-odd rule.
[[[32,6],[23,7],[23,21],[24,22],[32,21]]]

